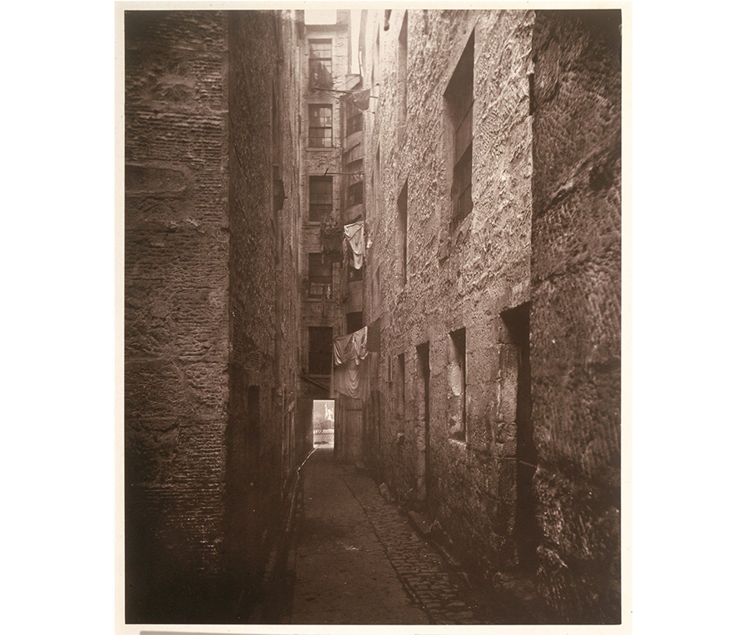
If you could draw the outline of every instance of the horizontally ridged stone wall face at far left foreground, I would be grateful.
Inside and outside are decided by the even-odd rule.
[[[178,611],[164,589],[199,592],[220,571],[226,15],[127,12],[125,47],[125,546],[137,620],[152,598],[161,610],[149,616]]]

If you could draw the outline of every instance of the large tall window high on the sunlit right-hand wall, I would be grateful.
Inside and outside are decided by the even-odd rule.
[[[453,143],[451,186],[451,229],[472,211],[472,104],[474,75],[474,32],[456,64],[444,93]]]

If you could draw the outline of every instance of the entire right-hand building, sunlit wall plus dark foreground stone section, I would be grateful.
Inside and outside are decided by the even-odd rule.
[[[621,14],[366,13],[365,456],[496,586],[619,622]]]

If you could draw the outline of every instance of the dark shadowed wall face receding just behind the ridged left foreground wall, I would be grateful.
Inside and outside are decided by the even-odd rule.
[[[276,251],[273,225],[275,19],[229,13],[230,400],[226,430],[226,569],[257,580],[279,520]],[[279,87],[276,87],[278,92]],[[278,131],[279,132],[279,131]],[[263,533],[270,527],[270,532]]]

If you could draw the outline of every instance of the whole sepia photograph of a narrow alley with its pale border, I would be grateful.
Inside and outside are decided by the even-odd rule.
[[[630,3],[231,4],[116,4],[118,622],[627,625]]]

